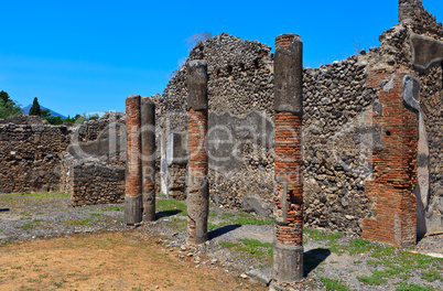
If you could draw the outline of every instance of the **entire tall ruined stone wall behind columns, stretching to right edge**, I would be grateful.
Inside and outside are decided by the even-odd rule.
[[[400,212],[401,219],[398,222],[402,230],[399,237],[401,241],[413,240],[406,234],[414,227],[408,224],[408,219],[415,219],[412,216],[417,201],[410,194],[418,188],[415,162],[420,152],[413,150],[413,142],[419,138],[420,118],[418,114],[408,111],[402,103],[402,78],[406,75],[414,76],[421,83],[420,115],[424,120],[429,149],[428,157],[424,157],[429,165],[429,183],[426,176],[420,177],[420,174],[419,182],[429,184],[428,212],[440,215],[440,208],[443,208],[439,204],[443,197],[442,68],[435,65],[426,72],[418,72],[412,66],[410,47],[413,33],[442,40],[442,26],[419,0],[400,0],[399,18],[401,24],[380,35],[379,47],[361,51],[359,55],[320,68],[303,71],[303,176],[307,225],[360,234],[365,219],[383,224],[382,208],[389,207],[389,204],[381,203],[372,185],[380,175],[379,166],[387,165],[378,164],[377,159],[378,152],[390,143],[386,128],[395,120],[386,119],[383,111],[388,110],[389,98],[392,98],[398,101],[392,105],[392,110],[400,110],[401,118],[408,119],[400,127],[404,128],[404,133],[399,147],[403,147],[404,142],[409,148],[393,153],[403,157],[408,163],[401,166],[403,172],[399,175],[407,175],[409,182],[402,184],[404,192],[398,194],[395,202],[399,209],[409,209]],[[256,211],[267,214],[266,204],[269,204],[273,191],[273,55],[270,47],[222,34],[191,52],[190,60],[198,58],[208,63],[212,198],[228,207],[246,208],[250,206],[247,204],[255,204]],[[158,118],[162,120],[164,132],[186,130],[185,82],[186,66],[171,79],[159,98]],[[171,112],[174,112],[173,118],[166,117]],[[216,128],[216,125],[222,128]],[[163,146],[169,142],[171,139],[165,138]],[[183,140],[182,143],[185,142]],[[172,143],[169,153],[185,157],[183,147]],[[409,149],[412,149],[411,154]],[[223,157],[228,159],[217,159]],[[169,168],[172,175],[185,173],[183,159],[181,163],[173,160],[170,159]],[[418,160],[420,164],[423,157]],[[171,177],[171,181],[180,179]],[[182,184],[179,188],[184,187]],[[255,202],[250,203],[251,200]],[[393,217],[386,219],[396,220]],[[391,242],[397,244],[395,240]]]

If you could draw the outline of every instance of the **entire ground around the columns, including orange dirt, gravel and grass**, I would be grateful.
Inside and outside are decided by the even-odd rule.
[[[268,290],[249,279],[270,282],[269,218],[212,205],[208,241],[192,248],[186,204],[164,196],[138,228],[122,204],[72,207],[64,193],[0,194],[2,207],[0,290]],[[401,250],[304,229],[303,245],[305,279],[290,290],[442,291],[443,235]]]

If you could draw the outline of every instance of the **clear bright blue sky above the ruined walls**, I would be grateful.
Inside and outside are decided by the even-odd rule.
[[[443,21],[441,0],[423,4]],[[355,43],[377,46],[398,23],[398,0],[1,0],[0,11],[0,90],[65,116],[125,111],[128,95],[162,94],[195,33],[270,46],[278,34],[298,33],[304,65],[317,67],[355,54]]]

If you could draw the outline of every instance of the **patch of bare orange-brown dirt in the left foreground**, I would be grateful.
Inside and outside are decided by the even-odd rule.
[[[1,290],[266,290],[180,260],[142,230],[71,235],[0,247]]]

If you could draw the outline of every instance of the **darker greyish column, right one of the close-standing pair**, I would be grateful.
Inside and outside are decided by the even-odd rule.
[[[141,160],[143,174],[143,222],[155,220],[155,105],[141,98]]]

